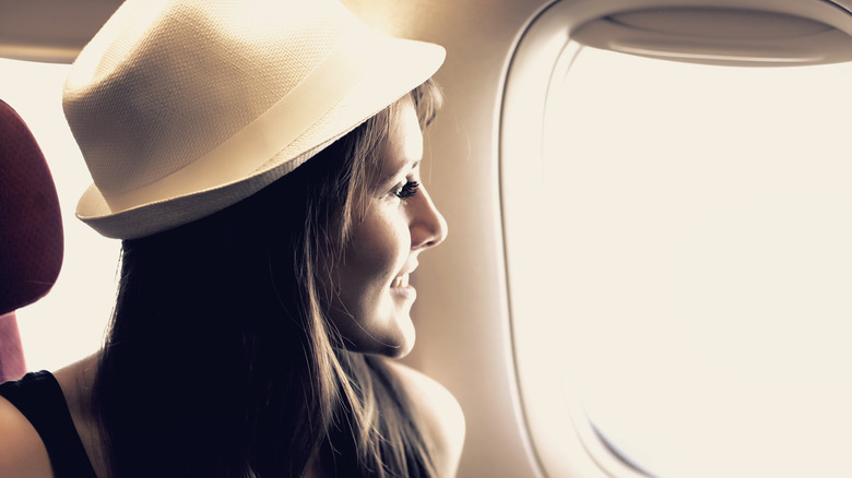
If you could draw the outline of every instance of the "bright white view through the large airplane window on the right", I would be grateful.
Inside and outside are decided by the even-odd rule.
[[[852,476],[852,67],[564,81],[542,280],[591,420],[660,477]]]

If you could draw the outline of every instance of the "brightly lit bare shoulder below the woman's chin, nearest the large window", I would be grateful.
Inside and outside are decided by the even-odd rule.
[[[459,402],[443,385],[417,370],[392,360],[388,360],[388,365],[424,419],[440,476],[455,476],[465,433],[464,414]]]

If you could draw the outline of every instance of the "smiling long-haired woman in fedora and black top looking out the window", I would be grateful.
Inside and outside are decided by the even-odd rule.
[[[332,0],[126,1],[64,93],[78,216],[123,240],[109,335],[0,387],[0,476],[454,475],[458,404],[389,360],[447,234],[442,59]]]

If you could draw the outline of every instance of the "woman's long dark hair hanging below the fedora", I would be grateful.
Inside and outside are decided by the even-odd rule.
[[[411,96],[427,124],[437,87]],[[395,108],[226,210],[122,243],[92,391],[114,478],[435,475],[405,391],[323,312]]]

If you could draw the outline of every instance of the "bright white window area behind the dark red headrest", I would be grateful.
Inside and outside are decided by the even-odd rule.
[[[56,182],[64,227],[64,261],[47,296],[16,312],[29,370],[56,369],[100,345],[115,297],[119,241],[105,239],[74,217],[92,183],[62,113],[69,64],[0,59],[0,99],[24,119]]]

